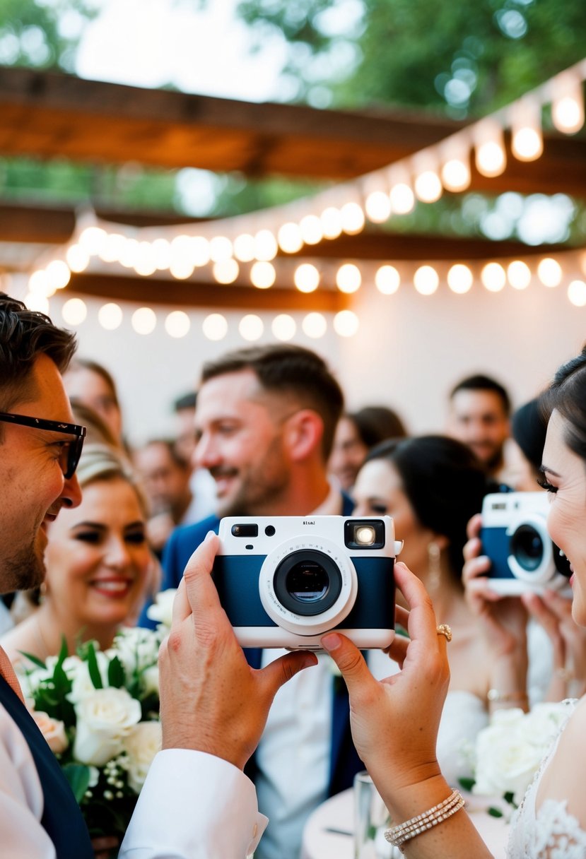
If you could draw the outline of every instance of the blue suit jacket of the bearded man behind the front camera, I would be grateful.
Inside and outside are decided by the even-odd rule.
[[[351,498],[344,494],[342,497],[342,515],[350,516],[354,505]],[[162,590],[179,586],[183,570],[185,570],[193,551],[197,549],[208,531],[217,533],[219,525],[220,520],[217,516],[208,516],[207,519],[196,522],[194,525],[185,525],[174,530],[163,551]],[[144,612],[140,624],[143,626],[151,624]],[[262,650],[247,648],[244,652],[248,664],[253,668],[259,668]],[[356,773],[364,769],[363,762],[358,758],[351,738],[350,704],[345,682],[341,677],[333,677],[332,682],[332,746],[330,748],[328,796],[333,796],[341,790],[350,788]],[[254,757],[248,762],[246,772],[254,780]]]

